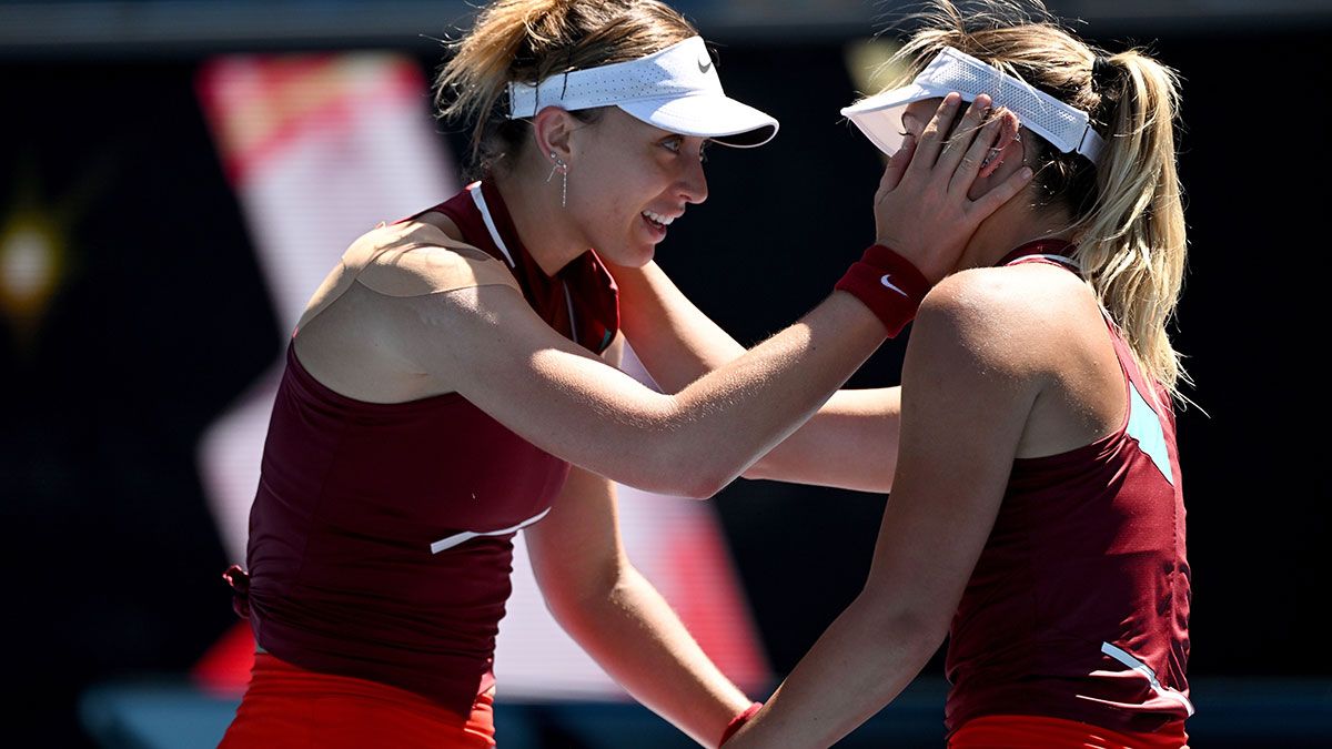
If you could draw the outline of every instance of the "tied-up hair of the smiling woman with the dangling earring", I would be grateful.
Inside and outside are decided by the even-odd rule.
[[[517,153],[531,127],[507,116],[510,83],[635,60],[697,35],[657,0],[497,0],[449,45],[436,107],[442,119],[474,121],[469,171],[485,173]],[[595,111],[574,115],[589,120]]]

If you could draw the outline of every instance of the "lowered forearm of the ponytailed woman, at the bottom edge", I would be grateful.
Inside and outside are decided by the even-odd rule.
[[[830,746],[896,697],[943,634],[874,609],[856,598],[726,749]]]

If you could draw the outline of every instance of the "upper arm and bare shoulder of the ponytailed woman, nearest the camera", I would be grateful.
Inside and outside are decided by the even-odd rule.
[[[926,297],[902,374],[902,436],[866,593],[942,638],[984,548],[1044,378],[1038,327],[984,273]]]

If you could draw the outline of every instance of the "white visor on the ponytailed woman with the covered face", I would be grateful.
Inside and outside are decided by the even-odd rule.
[[[1007,107],[1022,125],[1063,153],[1076,151],[1095,164],[1104,147],[1087,112],[951,47],[944,47],[910,84],[862,99],[842,109],[842,115],[880,151],[895,153],[902,147],[902,112],[907,105],[942,99],[952,91],[960,93],[963,101],[988,93],[995,108]]]

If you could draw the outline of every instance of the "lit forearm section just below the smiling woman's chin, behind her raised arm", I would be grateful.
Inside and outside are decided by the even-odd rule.
[[[655,263],[611,271],[619,285],[621,328],[666,392],[679,392],[745,353],[745,347],[703,315]]]

